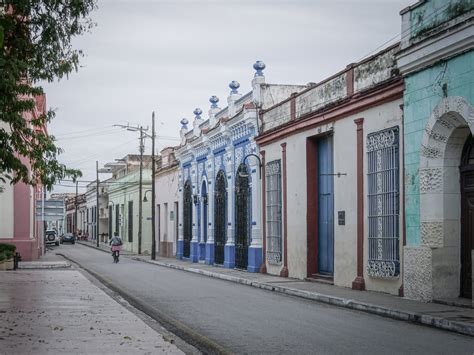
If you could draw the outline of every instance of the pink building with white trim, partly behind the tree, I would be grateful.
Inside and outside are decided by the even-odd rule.
[[[46,112],[46,97],[36,98],[34,112],[26,113],[25,119],[39,117]],[[4,126],[5,129],[9,127]],[[46,127],[37,128],[46,130]],[[29,165],[26,158],[22,158]],[[5,184],[0,193],[0,243],[15,244],[23,261],[38,259],[42,254],[42,226],[35,218],[35,202],[41,198],[41,186],[31,187],[24,183]]]

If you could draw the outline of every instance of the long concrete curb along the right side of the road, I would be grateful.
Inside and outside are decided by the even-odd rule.
[[[263,290],[274,291],[283,293],[290,296],[296,296],[308,300],[313,300],[321,303],[330,304],[332,306],[349,308],[357,311],[367,312],[376,314],[378,316],[392,318],[396,320],[413,322],[416,324],[431,326],[451,332],[456,332],[464,335],[474,336],[474,324],[466,324],[461,322],[452,321],[442,317],[435,317],[429,314],[423,314],[418,312],[403,311],[397,309],[391,309],[383,306],[374,304],[364,303],[357,300],[341,298],[336,296],[325,295],[317,292],[310,292],[304,290],[298,290],[290,287],[276,286],[267,284],[264,282],[251,281],[237,276],[223,275],[207,270],[200,270],[191,267],[183,267],[180,265],[169,264],[163,261],[145,260],[138,257],[132,257],[133,260],[142,261],[149,264],[158,266],[164,266],[170,269],[182,270],[192,272],[199,275],[213,277],[216,279],[231,281],[242,285],[252,286]]]

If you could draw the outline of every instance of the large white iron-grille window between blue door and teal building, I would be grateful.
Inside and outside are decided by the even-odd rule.
[[[369,259],[372,277],[400,274],[398,127],[367,136]]]

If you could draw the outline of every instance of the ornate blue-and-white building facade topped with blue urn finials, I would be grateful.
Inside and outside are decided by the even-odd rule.
[[[252,90],[240,95],[232,81],[228,106],[212,96],[209,118],[194,110],[193,128],[182,119],[178,176],[176,257],[258,272],[262,263],[260,164],[254,137],[258,112],[304,89],[266,84],[257,61]]]

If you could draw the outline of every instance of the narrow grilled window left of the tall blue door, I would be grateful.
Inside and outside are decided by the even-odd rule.
[[[267,220],[267,261],[281,263],[281,164],[274,160],[265,167],[266,178],[266,220]]]

